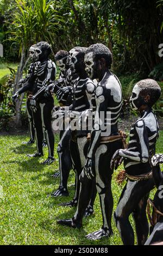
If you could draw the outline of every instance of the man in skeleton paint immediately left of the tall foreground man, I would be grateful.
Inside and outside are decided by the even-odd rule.
[[[85,111],[85,109],[90,108],[90,101],[93,93],[95,92],[95,84],[90,80],[90,78],[87,77],[87,74],[85,72],[85,64],[84,64],[84,55],[85,55],[85,49],[84,51],[74,51],[71,58],[71,70],[74,70],[76,74],[79,75],[79,80],[74,84],[74,100],[72,103],[72,106],[70,106],[70,118],[74,122],[78,123],[78,118],[80,113]],[[77,117],[75,117],[77,114]],[[74,115],[74,117],[73,117]],[[71,129],[71,126],[70,126]],[[71,153],[71,159],[72,159],[72,166],[74,171],[76,172],[76,193],[74,195],[74,198],[71,202],[60,204],[60,205],[66,205],[66,206],[75,206],[78,202],[78,196],[79,196],[79,175],[82,172],[82,168],[85,163],[85,157],[87,154],[87,133],[88,131],[66,131],[69,132],[71,135],[71,142],[70,142],[70,153]],[[93,202],[95,200],[96,191],[92,191],[92,200],[87,203],[86,215],[90,215],[93,213]]]

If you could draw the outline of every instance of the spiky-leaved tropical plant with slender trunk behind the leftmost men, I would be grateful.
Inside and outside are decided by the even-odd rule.
[[[21,55],[20,65],[15,78],[13,93],[18,89],[18,81],[22,78],[23,70],[27,65],[28,48],[37,41],[45,40],[54,44],[55,34],[60,27],[62,18],[54,9],[53,1],[47,0],[16,0],[16,10],[12,14],[10,37],[8,40],[17,45]],[[16,124],[21,125],[21,105],[24,94],[16,103]]]

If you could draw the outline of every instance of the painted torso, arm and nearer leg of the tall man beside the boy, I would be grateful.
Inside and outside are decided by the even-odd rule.
[[[116,96],[117,99],[114,99]],[[101,239],[103,236],[109,236],[112,234],[111,230],[111,216],[110,212],[112,204],[111,194],[111,172],[110,178],[107,179],[105,175],[108,175],[108,164],[111,161],[112,154],[118,147],[121,147],[122,143],[112,142],[103,143],[99,145],[99,140],[102,137],[102,133],[106,136],[117,135],[117,120],[122,106],[122,90],[121,84],[117,78],[110,72],[106,72],[104,80],[102,80],[95,92],[95,101],[93,104],[93,112],[95,113],[95,124],[91,133],[91,145],[89,153],[87,154],[86,165],[84,168],[87,178],[92,179],[96,177],[96,187],[101,200],[101,208],[103,215],[103,227],[102,229],[95,231],[87,235],[86,237],[91,240]],[[101,112],[104,112],[104,126],[110,126],[109,131],[102,131],[100,124],[98,123]],[[107,112],[110,112],[107,116]],[[97,120],[97,121],[96,121]],[[92,168],[92,160],[94,161],[95,169]],[[104,178],[105,177],[105,178]],[[105,180],[105,181],[104,181]],[[108,184],[107,184],[108,183]],[[108,201],[108,202],[107,202]],[[108,205],[107,205],[107,203]]]

